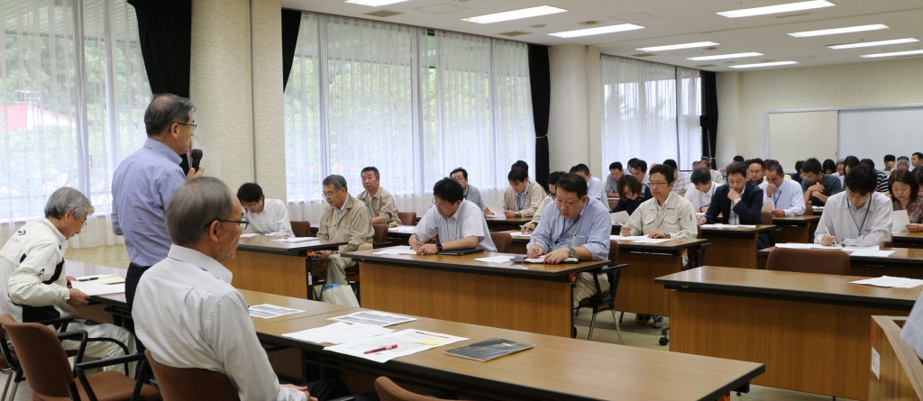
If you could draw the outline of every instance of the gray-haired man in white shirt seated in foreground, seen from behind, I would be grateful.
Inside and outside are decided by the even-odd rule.
[[[189,181],[166,213],[169,256],[138,282],[132,317],[154,360],[180,369],[222,372],[242,400],[308,400],[348,395],[336,380],[280,384],[221,262],[234,257],[246,220],[220,180]]]

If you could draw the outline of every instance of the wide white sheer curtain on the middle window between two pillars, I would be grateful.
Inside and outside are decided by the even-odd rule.
[[[456,167],[499,203],[509,165],[533,159],[529,88],[525,44],[305,13],[285,89],[292,218],[320,218],[329,174],[362,192],[366,166],[401,211],[426,212]]]

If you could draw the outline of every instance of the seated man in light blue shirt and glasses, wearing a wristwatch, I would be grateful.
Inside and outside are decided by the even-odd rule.
[[[586,195],[586,180],[577,174],[557,179],[555,203],[545,206],[542,220],[526,246],[529,257],[545,255],[545,263],[558,264],[569,257],[580,260],[605,260],[609,257],[612,220],[602,202]],[[599,277],[602,290],[609,288],[605,276]],[[593,276],[581,273],[574,287],[573,302],[596,292]]]

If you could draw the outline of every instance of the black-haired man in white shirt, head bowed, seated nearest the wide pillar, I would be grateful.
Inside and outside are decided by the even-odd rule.
[[[237,199],[244,206],[244,217],[258,234],[294,237],[288,207],[279,199],[267,199],[258,183],[245,183],[237,189]]]

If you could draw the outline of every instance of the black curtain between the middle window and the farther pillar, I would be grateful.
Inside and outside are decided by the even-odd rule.
[[[529,80],[535,124],[535,181],[548,187],[548,112],[551,109],[551,72],[548,47],[529,45]]]

